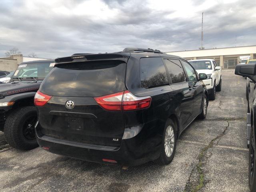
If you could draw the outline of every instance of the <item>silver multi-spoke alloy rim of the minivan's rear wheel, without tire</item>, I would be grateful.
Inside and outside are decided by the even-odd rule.
[[[164,151],[167,157],[172,155],[174,150],[174,129],[172,126],[168,126],[164,136]]]

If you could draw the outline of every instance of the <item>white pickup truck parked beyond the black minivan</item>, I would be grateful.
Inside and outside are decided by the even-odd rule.
[[[221,91],[221,67],[214,59],[189,60],[196,72],[205,73],[207,79],[203,80],[209,93],[209,99],[215,100],[216,91]]]

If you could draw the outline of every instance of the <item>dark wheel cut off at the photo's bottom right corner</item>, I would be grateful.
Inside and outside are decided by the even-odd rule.
[[[254,131],[251,132],[249,146],[249,187],[250,191],[256,191],[256,174],[255,174],[255,139]]]

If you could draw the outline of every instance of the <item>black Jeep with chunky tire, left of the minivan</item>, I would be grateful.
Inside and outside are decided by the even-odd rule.
[[[0,84],[0,130],[10,146],[26,150],[38,146],[34,95],[53,66],[54,60],[23,62],[10,82]]]

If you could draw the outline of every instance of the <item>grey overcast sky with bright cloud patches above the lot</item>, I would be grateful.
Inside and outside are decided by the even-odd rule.
[[[1,0],[0,57],[256,45],[256,0]],[[237,36],[237,37],[236,37]]]

